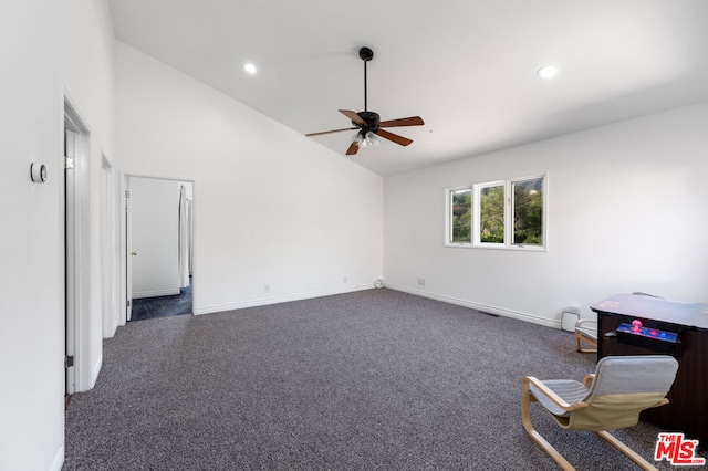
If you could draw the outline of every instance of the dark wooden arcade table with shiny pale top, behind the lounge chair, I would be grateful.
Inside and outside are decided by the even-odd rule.
[[[597,313],[597,359],[615,355],[671,355],[678,373],[669,404],[642,418],[669,431],[683,431],[708,446],[708,304],[636,294],[616,294],[591,307]],[[645,327],[678,334],[678,343],[638,346],[615,336],[620,324],[638,320]],[[668,347],[668,352],[658,352]]]

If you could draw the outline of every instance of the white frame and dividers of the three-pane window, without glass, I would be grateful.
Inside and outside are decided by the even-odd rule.
[[[542,179],[543,193],[543,214],[542,214],[542,234],[541,244],[514,244],[513,239],[513,185],[522,181]],[[503,186],[504,188],[504,242],[481,242],[480,241],[480,193],[485,188]],[[472,205],[472,233],[471,242],[452,242],[452,192],[471,188]],[[445,245],[468,248],[468,249],[491,249],[491,250],[512,250],[512,251],[530,251],[546,252],[549,247],[548,221],[549,221],[549,174],[534,174],[523,177],[507,178],[503,180],[483,181],[473,185],[465,185],[446,189],[445,214],[446,231]]]

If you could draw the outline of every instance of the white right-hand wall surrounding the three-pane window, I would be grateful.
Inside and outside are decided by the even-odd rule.
[[[386,283],[546,325],[615,293],[708,302],[706,129],[702,103],[388,177]],[[548,252],[444,247],[446,188],[544,171]]]

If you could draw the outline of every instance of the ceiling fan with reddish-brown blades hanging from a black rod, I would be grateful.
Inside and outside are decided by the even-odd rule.
[[[366,63],[374,59],[374,51],[368,48],[362,48],[358,51],[358,56],[364,61],[364,111],[352,112],[348,109],[340,109],[344,116],[352,121],[354,127],[345,127],[342,129],[323,130],[321,133],[310,133],[305,136],[321,136],[323,134],[341,133],[343,130],[358,129],[352,139],[352,144],[346,149],[346,155],[351,156],[356,154],[360,147],[375,146],[378,144],[378,137],[388,139],[392,143],[407,146],[413,140],[407,137],[398,136],[397,134],[389,133],[384,127],[398,127],[398,126],[423,126],[425,123],[420,116],[410,116],[399,119],[381,121],[378,113],[369,112],[366,102]]]

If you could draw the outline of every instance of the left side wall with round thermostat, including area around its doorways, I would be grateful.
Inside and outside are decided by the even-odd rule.
[[[105,1],[3,2],[0,57],[7,66],[0,95],[0,140],[6,205],[1,211],[3,228],[8,228],[1,231],[0,241],[3,470],[59,470],[63,461],[63,98],[67,92],[88,118],[92,153],[100,156],[103,149],[111,156],[112,38]],[[46,166],[46,182],[30,181],[32,161]],[[98,188],[100,159],[92,164],[92,172],[91,187]],[[93,199],[98,195],[91,193],[92,201],[100,201]],[[100,273],[100,214],[97,206],[92,208],[95,226],[87,243],[93,271]],[[90,287],[94,308],[85,325],[90,381],[101,365],[100,282],[96,275]]]

